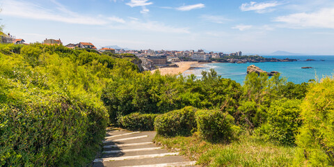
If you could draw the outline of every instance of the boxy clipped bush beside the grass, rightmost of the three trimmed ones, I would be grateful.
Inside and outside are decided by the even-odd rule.
[[[230,141],[233,136],[234,118],[228,113],[216,110],[196,112],[200,136],[208,141]]]

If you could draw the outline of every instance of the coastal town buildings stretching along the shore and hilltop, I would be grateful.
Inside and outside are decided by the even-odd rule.
[[[1,43],[14,43],[15,45],[30,45],[26,43],[24,39],[17,39],[15,36],[10,35],[10,33],[5,34],[1,32]],[[61,39],[47,39],[40,42],[43,45],[63,45]],[[177,74],[179,72],[184,72],[190,67],[201,67],[197,63],[262,63],[262,62],[286,62],[286,61],[297,61],[296,59],[278,59],[278,58],[264,58],[262,56],[243,56],[241,51],[237,51],[230,54],[225,54],[223,52],[215,53],[214,51],[205,52],[203,49],[196,50],[158,50],[154,51],[152,49],[122,49],[122,48],[111,48],[111,47],[101,47],[98,49],[93,45],[92,42],[79,42],[77,44],[70,43],[64,45],[70,49],[93,49],[95,51],[110,52],[111,54],[133,54],[141,59],[141,67],[145,71],[152,71],[156,69],[168,68],[168,73]],[[184,63],[181,63],[184,62]],[[182,65],[182,70],[176,70],[173,72],[170,68],[180,67]],[[162,70],[164,73],[164,70]]]

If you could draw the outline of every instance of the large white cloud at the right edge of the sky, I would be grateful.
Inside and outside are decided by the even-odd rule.
[[[295,13],[276,17],[274,22],[284,22],[291,28],[334,29],[334,8],[322,8],[313,13]]]

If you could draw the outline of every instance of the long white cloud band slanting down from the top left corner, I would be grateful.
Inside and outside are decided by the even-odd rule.
[[[97,15],[94,17],[81,15],[79,13],[74,13],[70,10],[67,10],[65,6],[57,3],[56,0],[52,1],[54,1],[56,4],[56,10],[42,8],[41,6],[26,1],[3,0],[3,11],[1,14],[28,19],[65,22],[70,24],[106,26],[111,29],[130,29],[162,33],[190,33],[189,28],[186,27],[169,26],[162,22],[141,22],[136,17],[128,17],[129,19],[125,20],[116,16],[105,17],[103,15]],[[148,11],[149,10],[143,10],[143,12]]]

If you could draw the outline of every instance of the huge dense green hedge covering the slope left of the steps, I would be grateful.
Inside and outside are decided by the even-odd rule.
[[[122,64],[138,69],[84,49],[0,45],[0,166],[90,163],[109,122],[101,92]]]

